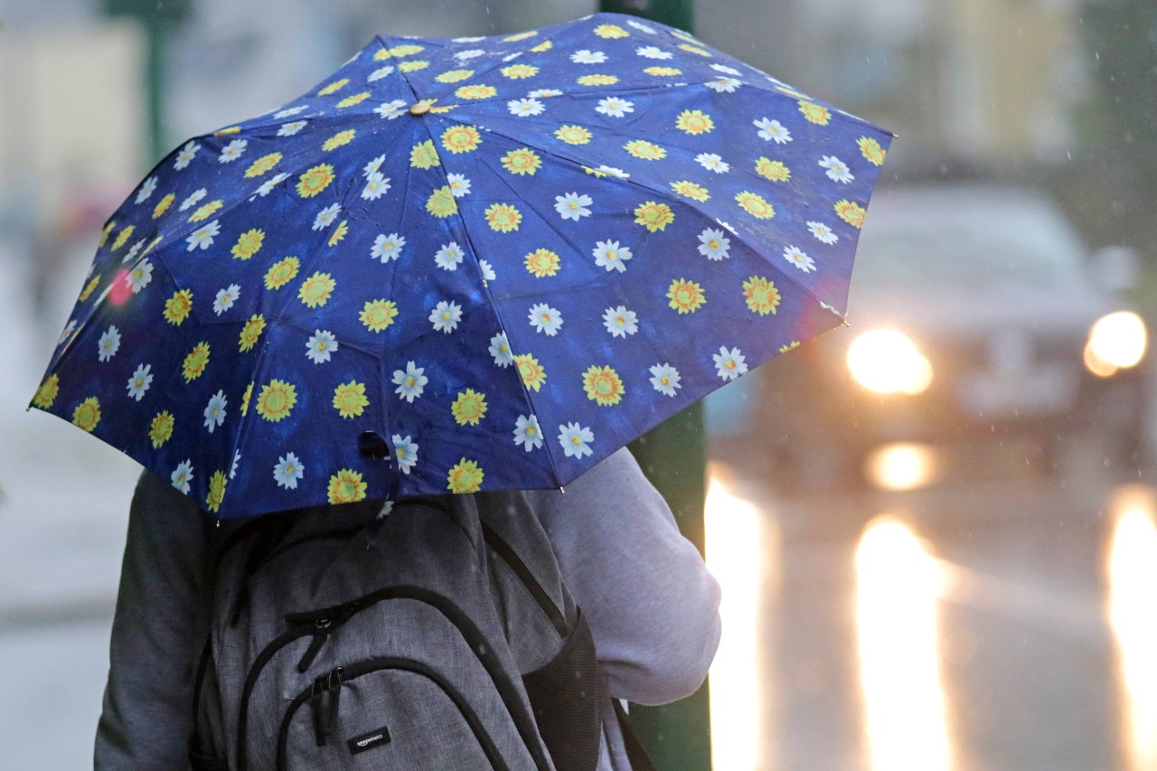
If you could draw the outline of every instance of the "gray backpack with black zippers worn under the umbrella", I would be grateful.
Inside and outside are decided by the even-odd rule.
[[[221,528],[193,771],[591,771],[595,646],[521,493]]]

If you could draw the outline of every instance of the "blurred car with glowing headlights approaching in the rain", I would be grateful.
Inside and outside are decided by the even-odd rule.
[[[713,456],[784,490],[865,475],[914,487],[1004,450],[1046,472],[1074,447],[1130,462],[1148,399],[1145,325],[1120,294],[1129,263],[1121,251],[1089,255],[1032,191],[880,191],[850,326],[709,402]]]

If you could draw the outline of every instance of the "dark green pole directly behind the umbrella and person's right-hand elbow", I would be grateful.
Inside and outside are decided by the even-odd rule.
[[[633,14],[692,32],[693,0],[600,0],[599,10]],[[643,472],[675,513],[679,529],[703,553],[707,448],[703,410],[697,403],[632,443]],[[712,768],[708,684],[685,699],[657,707],[631,706],[631,725],[658,771]]]

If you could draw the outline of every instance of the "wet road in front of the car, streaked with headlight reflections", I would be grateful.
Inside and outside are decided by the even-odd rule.
[[[724,524],[735,504],[715,501],[708,559],[725,592],[760,589],[740,599],[753,625],[724,609],[713,726],[732,749],[716,768],[1157,768],[1149,476],[794,500],[734,483],[759,514]],[[762,563],[714,559],[713,537],[720,553],[762,544]],[[747,736],[730,717],[744,703]]]

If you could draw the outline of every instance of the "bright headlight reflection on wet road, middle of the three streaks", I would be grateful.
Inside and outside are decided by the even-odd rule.
[[[952,768],[938,649],[936,559],[907,526],[871,522],[856,550],[864,729],[878,771]]]

